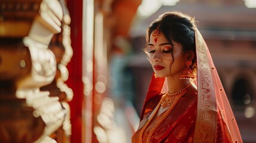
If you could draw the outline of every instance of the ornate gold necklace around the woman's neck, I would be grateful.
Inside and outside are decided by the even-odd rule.
[[[191,83],[189,83],[185,88],[181,89],[180,91],[172,94],[170,94],[169,92],[166,92],[166,94],[162,96],[162,100],[161,100],[162,107],[165,108],[168,105],[171,105],[174,102],[177,102],[177,100],[179,100],[179,98],[177,98],[178,97],[177,95],[184,95],[187,92],[187,88],[189,88],[190,85]]]

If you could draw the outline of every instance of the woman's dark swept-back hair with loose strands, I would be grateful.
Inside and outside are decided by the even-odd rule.
[[[193,70],[196,69],[196,44],[195,44],[195,20],[187,14],[178,11],[169,11],[162,15],[159,15],[158,19],[153,21],[146,34],[146,47],[150,41],[151,33],[158,29],[164,33],[165,38],[169,43],[172,41],[180,43],[183,53],[192,50],[195,53],[195,57],[192,60]],[[172,59],[173,55],[172,55]],[[195,71],[195,70],[194,70]]]

